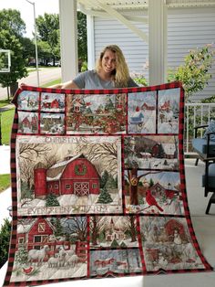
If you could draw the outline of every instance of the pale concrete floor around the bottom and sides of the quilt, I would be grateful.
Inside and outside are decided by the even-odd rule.
[[[1,163],[4,147],[0,147]],[[7,155],[6,155],[7,154]],[[5,168],[8,168],[7,163],[9,155],[8,151],[4,156],[6,164],[3,168],[1,165],[0,173],[4,173]],[[200,162],[198,166],[195,166],[195,160],[185,160],[186,182],[187,182],[187,195],[189,200],[189,210],[192,218],[193,228],[196,237],[200,244],[200,249],[205,258],[209,261],[210,265],[215,268],[215,205],[210,207],[210,215],[205,214],[207,207],[208,197],[204,197],[204,191],[201,187],[201,175],[203,173],[203,163]],[[6,207],[10,203],[8,194],[10,190],[0,194],[0,210],[3,214],[2,218],[8,217],[8,211]],[[1,221],[0,221],[1,225]],[[0,285],[4,282],[6,271],[6,264],[0,270]],[[116,279],[101,279],[101,280],[88,280],[88,281],[74,281],[74,282],[62,282],[55,284],[46,284],[50,287],[58,286],[72,286],[72,287],[211,287],[215,285],[215,271],[200,272],[200,273],[182,273],[171,275],[159,275],[159,276],[137,276],[137,277],[125,277]]]

